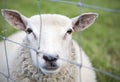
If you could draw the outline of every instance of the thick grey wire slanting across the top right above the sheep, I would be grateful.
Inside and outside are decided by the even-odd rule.
[[[71,1],[60,1],[60,0],[49,0],[49,1],[60,2],[60,3],[64,3],[64,4],[71,4],[71,5],[76,5],[79,7],[86,7],[86,8],[96,9],[96,10],[102,10],[105,12],[120,13],[119,9],[109,9],[109,8],[104,8],[104,7],[99,7],[99,6],[93,6],[93,5],[84,4],[82,2],[71,2]]]

